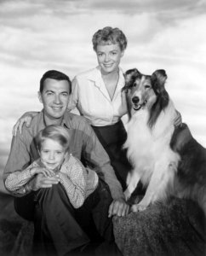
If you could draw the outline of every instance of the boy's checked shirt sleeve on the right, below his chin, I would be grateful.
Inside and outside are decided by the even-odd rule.
[[[86,179],[83,165],[74,157],[60,168],[60,183],[75,208],[81,207],[86,198]]]

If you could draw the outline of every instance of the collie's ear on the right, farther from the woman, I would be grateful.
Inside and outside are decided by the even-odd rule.
[[[164,84],[167,80],[168,76],[163,69],[158,69],[154,73],[152,73],[152,83],[154,89],[157,90],[157,93],[160,93],[164,90]]]

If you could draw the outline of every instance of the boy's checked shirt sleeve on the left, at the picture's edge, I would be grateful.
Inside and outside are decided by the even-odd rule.
[[[34,161],[31,166],[28,166],[23,171],[16,171],[10,173],[5,180],[5,187],[9,191],[14,191],[17,194],[24,194],[22,188],[26,183],[31,180],[31,168],[38,166],[36,161]]]

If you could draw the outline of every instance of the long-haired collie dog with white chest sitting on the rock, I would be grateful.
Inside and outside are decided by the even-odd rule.
[[[186,124],[175,127],[177,113],[164,87],[166,79],[164,70],[144,75],[134,68],[125,73],[129,123],[124,148],[134,169],[124,195],[128,200],[141,182],[146,194],[131,207],[133,212],[175,195],[197,201],[206,216],[206,149]]]

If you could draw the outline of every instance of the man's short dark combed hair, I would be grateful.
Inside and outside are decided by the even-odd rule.
[[[56,71],[56,70],[49,70],[46,73],[44,73],[42,79],[40,80],[39,91],[41,93],[43,92],[43,83],[46,79],[54,79],[59,81],[66,80],[69,84],[69,93],[71,94],[72,83],[69,77],[65,73],[61,73],[60,71]]]

